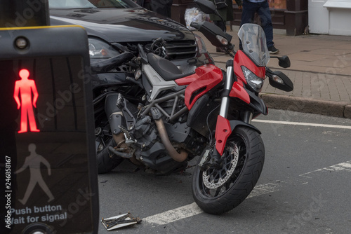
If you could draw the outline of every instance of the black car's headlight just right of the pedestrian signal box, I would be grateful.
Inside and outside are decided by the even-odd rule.
[[[112,46],[98,39],[88,39],[88,46],[91,59],[104,59],[119,55]]]

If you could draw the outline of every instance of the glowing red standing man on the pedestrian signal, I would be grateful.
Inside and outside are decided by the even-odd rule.
[[[37,129],[37,123],[35,122],[33,111],[33,106],[37,108],[37,87],[34,80],[28,79],[29,71],[27,69],[20,70],[19,74],[21,80],[15,82],[15,92],[13,93],[13,97],[15,97],[15,101],[17,102],[17,109],[21,109],[21,129],[18,133],[27,132],[28,120],[30,131],[40,132],[40,130]]]

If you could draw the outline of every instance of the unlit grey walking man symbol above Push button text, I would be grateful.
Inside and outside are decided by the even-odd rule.
[[[43,163],[46,165],[46,167],[48,167],[48,175],[51,175],[51,165],[48,163],[48,160],[39,155],[36,150],[37,146],[35,144],[29,144],[28,151],[30,154],[27,156],[27,158],[25,158],[25,163],[22,165],[22,167],[20,167],[20,169],[15,172],[15,174],[18,174],[29,167],[30,179],[27,191],[25,191],[25,196],[22,199],[18,199],[23,205],[27,203],[27,200],[32,194],[32,191],[36,184],[39,184],[41,189],[43,189],[46,195],[48,195],[48,202],[51,202],[54,199],[53,193],[51,193],[50,189],[46,185],[40,170],[40,164]]]

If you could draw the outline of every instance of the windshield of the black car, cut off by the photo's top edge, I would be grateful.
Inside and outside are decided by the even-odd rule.
[[[135,8],[131,0],[49,0],[49,8]]]

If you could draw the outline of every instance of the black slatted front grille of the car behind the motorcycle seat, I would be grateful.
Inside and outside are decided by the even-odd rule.
[[[168,60],[185,60],[197,55],[197,43],[194,40],[166,41],[166,58]]]

